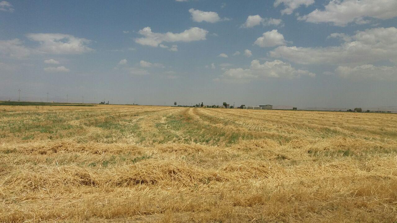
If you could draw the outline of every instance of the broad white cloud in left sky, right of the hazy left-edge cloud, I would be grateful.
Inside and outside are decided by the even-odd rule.
[[[82,54],[93,51],[86,46],[90,40],[60,33],[29,33],[27,37],[40,42],[39,52],[49,54]]]

